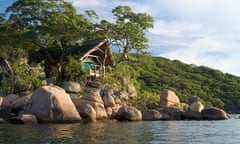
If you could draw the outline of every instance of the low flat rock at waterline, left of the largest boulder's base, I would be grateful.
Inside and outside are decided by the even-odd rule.
[[[11,124],[38,124],[37,118],[34,115],[23,114],[17,117],[7,119]]]

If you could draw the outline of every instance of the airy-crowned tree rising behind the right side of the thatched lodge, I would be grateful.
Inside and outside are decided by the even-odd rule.
[[[146,13],[134,13],[128,6],[117,6],[112,13],[114,23],[102,20],[96,26],[100,35],[110,38],[111,43],[119,48],[121,60],[128,59],[131,50],[142,52],[147,49],[145,32],[153,28],[153,18]]]

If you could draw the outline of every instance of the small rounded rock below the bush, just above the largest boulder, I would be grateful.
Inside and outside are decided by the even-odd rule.
[[[79,93],[81,91],[81,86],[78,82],[65,81],[62,87],[69,93]]]

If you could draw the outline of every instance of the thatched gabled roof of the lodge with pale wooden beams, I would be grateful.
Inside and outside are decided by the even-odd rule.
[[[69,47],[65,49],[64,56],[66,57],[69,55],[80,55],[80,60],[82,61],[91,57],[99,64],[114,64],[111,46],[109,40],[106,38],[87,41],[83,43],[82,46]]]

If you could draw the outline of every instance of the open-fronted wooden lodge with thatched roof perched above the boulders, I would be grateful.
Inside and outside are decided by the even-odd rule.
[[[83,68],[88,70],[91,78],[104,76],[105,67],[114,65],[113,54],[109,40],[106,38],[95,39],[83,43],[82,46],[65,49],[64,55],[79,55]]]

